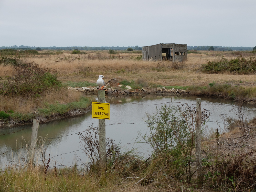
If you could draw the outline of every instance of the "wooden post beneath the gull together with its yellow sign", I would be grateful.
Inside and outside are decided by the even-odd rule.
[[[105,90],[98,90],[99,103],[92,103],[92,118],[99,119],[99,155],[100,168],[105,169],[106,157],[106,125],[105,119],[110,119],[109,103],[105,103]]]

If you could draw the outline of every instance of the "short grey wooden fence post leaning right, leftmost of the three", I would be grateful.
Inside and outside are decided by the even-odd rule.
[[[30,147],[29,147],[29,150],[28,150],[28,164],[29,164],[29,166],[33,166],[33,164],[34,164],[39,122],[40,122],[39,120],[33,119],[32,135],[31,135]]]

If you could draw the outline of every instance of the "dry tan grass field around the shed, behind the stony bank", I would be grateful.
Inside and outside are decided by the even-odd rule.
[[[54,54],[50,54],[54,52]],[[202,73],[199,69],[208,61],[225,58],[253,56],[247,52],[201,51],[188,54],[185,62],[173,63],[170,61],[151,62],[141,60],[140,51],[115,51],[110,55],[104,51],[83,51],[85,54],[71,54],[71,51],[39,51],[40,55],[25,56],[20,59],[25,62],[36,62],[41,67],[49,67],[51,72],[58,73],[63,81],[95,82],[102,74],[105,81],[112,78],[123,78],[128,81],[144,79],[149,84],[164,86],[205,86],[215,81],[230,85],[255,86],[255,75],[234,75],[229,72],[222,74]],[[43,54],[43,55],[42,55]],[[255,55],[254,55],[255,57]],[[8,66],[0,66],[0,76],[11,76]]]

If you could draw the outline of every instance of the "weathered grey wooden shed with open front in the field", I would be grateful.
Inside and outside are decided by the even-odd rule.
[[[187,55],[187,44],[160,43],[142,47],[143,60],[170,60],[173,62],[181,62],[187,60]]]

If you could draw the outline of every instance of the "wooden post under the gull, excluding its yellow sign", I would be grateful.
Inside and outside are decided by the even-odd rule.
[[[105,103],[105,90],[98,90],[99,103]],[[105,169],[106,157],[106,126],[105,119],[99,119],[99,155],[100,155],[100,168]]]

